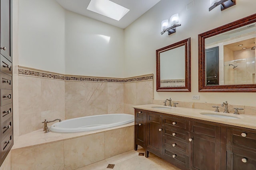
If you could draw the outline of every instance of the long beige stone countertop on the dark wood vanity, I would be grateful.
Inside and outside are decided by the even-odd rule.
[[[246,127],[250,129],[256,129],[256,116],[255,115],[234,115],[233,113],[223,113],[223,112],[214,112],[214,110],[204,110],[204,109],[193,109],[186,107],[168,107],[157,104],[148,104],[148,105],[140,105],[140,106],[132,106],[136,109],[144,109],[148,111],[155,111],[160,113],[166,113],[170,115],[177,115],[182,117],[188,117],[198,120],[211,121],[215,123],[223,123],[226,125],[234,125],[238,127]],[[166,107],[166,108],[154,108],[154,107]],[[214,108],[213,108],[214,109]],[[212,117],[208,115],[203,115],[201,113],[211,113],[217,115],[228,115],[232,117],[237,117],[239,119],[229,119],[229,118],[220,118],[220,117]]]

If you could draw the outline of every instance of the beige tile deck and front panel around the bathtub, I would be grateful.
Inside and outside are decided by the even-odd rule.
[[[84,133],[38,130],[20,136],[14,144],[12,170],[74,170],[132,150],[133,142],[134,123]]]

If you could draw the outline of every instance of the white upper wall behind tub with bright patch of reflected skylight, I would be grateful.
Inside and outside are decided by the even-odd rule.
[[[66,11],[66,74],[124,77],[124,29]]]

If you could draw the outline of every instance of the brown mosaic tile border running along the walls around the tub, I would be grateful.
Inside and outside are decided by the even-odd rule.
[[[86,76],[70,76],[58,73],[50,73],[33,69],[24,69],[18,68],[19,75],[27,75],[27,76],[35,76],[35,77],[43,77],[43,78],[52,78],[58,80],[75,80],[75,81],[88,81],[88,82],[137,82],[143,80],[153,80],[153,74],[132,77],[132,78],[101,78],[101,77],[86,77]]]

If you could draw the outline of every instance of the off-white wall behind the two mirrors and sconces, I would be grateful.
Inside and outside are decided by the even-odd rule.
[[[156,74],[156,49],[191,37],[191,92],[156,92],[154,76],[154,99],[172,98],[184,102],[221,103],[256,106],[255,93],[206,93],[198,92],[198,34],[255,13],[255,0],[237,0],[236,5],[224,11],[220,6],[208,11],[209,0],[195,0],[195,6],[186,9],[192,0],[161,0],[143,16],[124,30],[125,72],[124,77]],[[179,13],[181,26],[168,36],[161,32],[161,21]],[[200,95],[200,100],[192,100]]]

